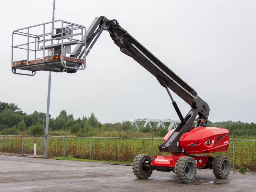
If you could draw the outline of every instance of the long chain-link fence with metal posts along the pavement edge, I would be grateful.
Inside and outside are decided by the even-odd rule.
[[[43,155],[44,136],[0,136],[0,152],[33,154],[36,140],[37,155]],[[163,139],[158,138],[110,138],[110,137],[60,137],[49,136],[48,156],[68,156],[92,160],[132,162],[138,154],[168,155],[158,150]],[[256,170],[256,140],[229,140],[227,152],[233,169],[244,166]]]

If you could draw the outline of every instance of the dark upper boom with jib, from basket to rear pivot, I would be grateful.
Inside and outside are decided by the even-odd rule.
[[[95,18],[87,30],[86,55],[90,52],[103,30],[109,32],[114,43],[120,47],[121,52],[132,57],[147,69],[162,86],[170,88],[186,101],[192,109],[199,109],[200,116],[206,117],[209,115],[210,108],[208,104],[197,95],[197,92],[133,38],[116,20],[108,20],[104,16]],[[82,44],[77,45],[74,52],[82,51],[82,49]],[[77,54],[73,54],[73,56],[76,57]]]

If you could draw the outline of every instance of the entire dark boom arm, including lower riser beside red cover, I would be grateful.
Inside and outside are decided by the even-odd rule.
[[[202,126],[206,126],[210,112],[208,104],[197,95],[197,92],[192,87],[184,82],[171,69],[164,65],[164,63],[157,59],[126,30],[124,30],[116,20],[108,20],[104,16],[96,17],[88,28],[86,37],[84,36],[84,39],[86,38],[87,50],[83,50],[82,54],[78,55],[77,52],[81,52],[84,48],[83,44],[78,44],[73,51],[74,54],[71,54],[71,57],[81,58],[83,54],[87,55],[103,30],[109,32],[114,43],[120,47],[121,52],[136,60],[142,67],[154,75],[159,83],[166,88],[181,123],[169,139],[159,146],[159,150],[182,152],[179,147],[180,136],[184,132],[188,132],[190,130],[197,115],[198,119],[196,127],[200,124],[202,124]],[[191,110],[185,117],[181,115],[180,110],[176,102],[172,99],[172,95],[168,88],[191,106]]]

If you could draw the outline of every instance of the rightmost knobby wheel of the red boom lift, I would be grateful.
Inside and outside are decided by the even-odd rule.
[[[226,179],[230,173],[230,161],[225,155],[218,155],[212,163],[212,171],[216,178]]]

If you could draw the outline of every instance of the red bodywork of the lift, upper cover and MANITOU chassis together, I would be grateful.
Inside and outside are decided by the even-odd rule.
[[[168,132],[164,142],[174,132]],[[180,148],[184,153],[173,153],[171,156],[154,156],[151,166],[161,171],[161,167],[170,167],[172,171],[181,156],[191,156],[195,159],[197,168],[206,168],[213,160],[212,156],[196,156],[190,154],[214,153],[227,151],[229,145],[229,131],[220,127],[191,127],[189,132],[180,137]]]

